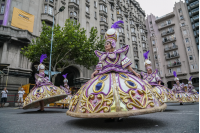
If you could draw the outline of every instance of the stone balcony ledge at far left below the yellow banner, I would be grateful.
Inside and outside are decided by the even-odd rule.
[[[0,25],[0,36],[2,38],[8,38],[8,39],[10,37],[14,37],[17,40],[23,40],[25,42],[31,42],[32,39],[36,38],[36,36],[34,36],[28,30],[15,29],[15,28],[3,26],[3,25]]]

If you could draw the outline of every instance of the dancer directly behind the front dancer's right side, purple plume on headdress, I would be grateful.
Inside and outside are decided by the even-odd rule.
[[[151,61],[148,59],[148,53],[144,53],[147,73],[142,72],[143,80],[146,80],[152,87],[154,94],[162,99],[162,102],[178,102],[173,91],[167,87],[161,85],[161,78],[157,74],[157,70],[152,73]]]

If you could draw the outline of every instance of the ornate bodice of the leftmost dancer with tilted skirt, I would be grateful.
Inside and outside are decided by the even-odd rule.
[[[35,74],[35,82],[36,86],[43,86],[43,85],[53,85],[48,77],[45,77],[44,72],[40,72],[39,74]]]

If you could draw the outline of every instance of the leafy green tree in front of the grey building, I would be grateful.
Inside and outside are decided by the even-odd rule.
[[[69,64],[79,64],[87,69],[97,64],[98,58],[95,56],[95,50],[103,50],[104,39],[97,36],[97,29],[91,28],[90,36],[86,36],[86,30],[80,28],[80,23],[67,19],[64,27],[56,25],[54,27],[53,45],[52,45],[52,70],[56,71],[57,66],[65,68]],[[47,54],[44,64],[49,64],[49,55],[51,47],[52,28],[43,22],[42,33],[40,37],[22,48],[21,53],[31,62],[38,62],[41,54]]]

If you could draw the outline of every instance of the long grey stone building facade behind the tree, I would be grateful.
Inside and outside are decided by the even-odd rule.
[[[145,71],[143,53],[148,49],[145,12],[135,0],[0,0],[0,6],[0,63],[10,64],[10,92],[15,92],[21,84],[34,83],[34,74],[37,73],[35,65],[38,62],[29,62],[20,54],[20,50],[32,39],[40,36],[42,21],[52,26],[53,14],[58,12],[61,6],[65,6],[65,10],[56,15],[55,24],[62,27],[68,18],[77,20],[81,27],[86,29],[88,36],[92,27],[97,28],[100,36],[104,35],[114,22],[123,20],[117,48],[129,45],[128,57],[133,63],[131,67],[138,72]],[[34,15],[33,32],[12,26],[14,7]],[[70,87],[79,88],[90,79],[94,68],[88,70],[71,64],[58,70],[61,74],[53,81],[57,86],[62,85],[61,75],[68,73]],[[5,82],[6,77],[1,78],[0,89],[5,86]]]

